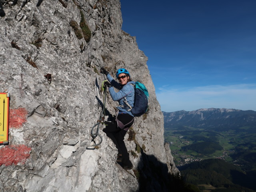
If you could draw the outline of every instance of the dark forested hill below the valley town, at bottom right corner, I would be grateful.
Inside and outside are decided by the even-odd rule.
[[[209,190],[209,188],[212,188],[212,192],[256,190],[256,172],[246,173],[221,159],[193,162],[179,167],[179,170],[185,182],[197,185],[201,190]]]

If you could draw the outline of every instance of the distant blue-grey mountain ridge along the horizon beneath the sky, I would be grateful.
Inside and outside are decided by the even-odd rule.
[[[194,111],[163,112],[164,128],[190,126],[195,128],[256,128],[256,111],[226,108],[198,109]]]

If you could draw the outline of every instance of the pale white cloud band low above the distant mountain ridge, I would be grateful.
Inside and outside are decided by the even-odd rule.
[[[200,108],[256,110],[256,84],[212,85],[194,88],[162,87],[156,93],[161,110],[174,112]]]

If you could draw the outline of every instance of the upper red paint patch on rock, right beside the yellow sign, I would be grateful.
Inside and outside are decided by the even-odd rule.
[[[18,108],[18,109],[10,109],[9,115],[9,126],[10,128],[20,128],[23,123],[25,123],[26,115],[28,112],[25,108]]]

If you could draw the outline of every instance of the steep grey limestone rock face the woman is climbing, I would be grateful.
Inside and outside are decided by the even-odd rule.
[[[26,111],[22,126],[10,126],[9,146],[31,148],[26,161],[2,160],[0,191],[167,190],[168,174],[179,172],[164,147],[164,120],[147,57],[121,29],[119,0],[1,0],[0,16],[0,92],[10,93],[10,110]],[[81,32],[81,19],[90,40],[78,38],[70,24],[75,21]],[[116,164],[117,150],[103,125],[102,143],[86,148],[94,144],[90,131],[102,108],[102,66],[111,74],[127,68],[150,94],[149,111],[125,137],[134,164],[127,172]],[[118,103],[109,94],[106,99],[108,118]]]

